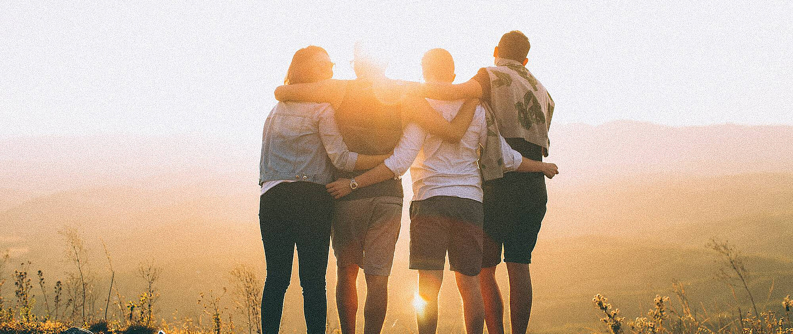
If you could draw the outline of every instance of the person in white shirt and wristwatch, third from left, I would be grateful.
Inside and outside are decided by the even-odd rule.
[[[428,82],[454,80],[454,60],[446,50],[430,50],[424,55],[422,66]],[[462,100],[428,102],[446,120],[455,117],[461,106],[471,103]],[[414,194],[410,205],[410,268],[419,272],[419,298],[427,303],[424,309],[416,310],[419,334],[436,332],[438,294],[447,252],[450,270],[455,272],[463,301],[466,332],[481,334],[485,322],[479,279],[483,255],[483,192],[477,159],[479,148],[488,137],[488,128],[485,110],[475,102],[473,106],[476,108],[473,121],[459,142],[442,140],[409,124],[393,155],[380,166],[356,177],[356,190],[351,191],[345,180],[327,186],[335,198],[350,193],[348,196],[354,196],[358,191],[366,191],[370,184],[393,179],[394,175],[402,175],[410,168]],[[553,163],[523,158],[503,137],[500,138],[500,156],[504,171],[535,171],[549,177],[557,173]],[[376,240],[380,232],[375,229],[373,234]],[[335,242],[334,248],[340,249]],[[390,251],[393,254],[393,248]],[[366,264],[364,266],[366,270]]]

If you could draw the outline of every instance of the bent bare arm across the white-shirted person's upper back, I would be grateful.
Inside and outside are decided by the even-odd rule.
[[[476,111],[479,100],[469,99],[463,103],[457,116],[452,121],[446,121],[442,115],[432,109],[427,100],[418,97],[408,97],[402,104],[402,115],[406,121],[416,123],[422,129],[441,137],[449,142],[458,142],[468,131]]]

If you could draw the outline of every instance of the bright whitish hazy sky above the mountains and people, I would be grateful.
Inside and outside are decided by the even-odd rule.
[[[520,6],[515,6],[520,4]],[[554,122],[793,124],[793,2],[0,2],[0,138],[132,133],[260,136],[289,60],[391,50],[420,79],[446,48],[458,82],[501,34],[532,44]]]

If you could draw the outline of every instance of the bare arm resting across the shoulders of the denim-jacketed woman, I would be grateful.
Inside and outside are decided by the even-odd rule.
[[[278,101],[330,102],[338,105],[344,98],[347,82],[344,80],[327,79],[316,83],[295,83],[275,88],[275,99]]]

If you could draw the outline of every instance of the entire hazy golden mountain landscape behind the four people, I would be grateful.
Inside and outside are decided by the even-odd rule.
[[[758,294],[767,293],[771,279],[780,290],[774,298],[793,288],[793,126],[620,121],[555,125],[551,138],[547,161],[561,174],[548,182],[549,209],[532,269],[538,328],[557,326],[561,316],[596,321],[596,313],[579,310],[596,293],[641,309],[666,293],[672,278],[691,284],[703,300],[723,297],[703,247],[711,237],[753,256]],[[163,314],[196,311],[197,294],[228,286],[236,263],[263,276],[259,145],[258,138],[200,136],[2,140],[0,250],[10,250],[12,263],[33,261],[54,282],[71,271],[58,231],[78,226],[99,289],[108,276],[105,242],[126,298],[142,289],[138,264],[154,259],[164,269]],[[407,217],[394,282],[413,284],[415,273],[405,269],[405,224]],[[328,286],[335,283],[334,265],[331,256]],[[299,299],[297,278],[288,294]],[[393,294],[395,301],[412,298],[412,290]],[[300,313],[298,306],[289,305],[289,312]]]

